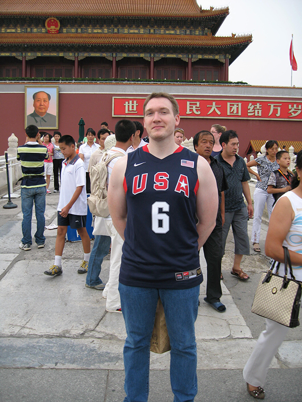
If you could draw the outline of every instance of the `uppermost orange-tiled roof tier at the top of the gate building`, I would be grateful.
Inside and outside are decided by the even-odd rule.
[[[196,0],[2,0],[0,16],[226,17],[229,8],[202,10]]]

